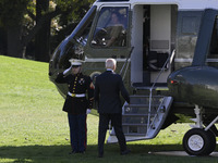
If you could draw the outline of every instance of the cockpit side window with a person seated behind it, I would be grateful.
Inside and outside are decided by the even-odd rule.
[[[125,47],[128,7],[102,8],[93,36],[94,47]]]

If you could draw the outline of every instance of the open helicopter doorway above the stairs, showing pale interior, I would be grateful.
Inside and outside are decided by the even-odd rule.
[[[178,8],[172,4],[135,5],[133,10],[131,82],[134,87],[167,86],[174,50]],[[164,68],[160,77],[159,72]]]

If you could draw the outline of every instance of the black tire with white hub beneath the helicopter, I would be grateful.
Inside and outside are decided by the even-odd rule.
[[[216,148],[216,137],[210,130],[193,128],[184,135],[183,148],[190,155],[208,155]]]

